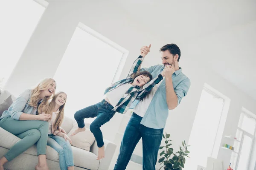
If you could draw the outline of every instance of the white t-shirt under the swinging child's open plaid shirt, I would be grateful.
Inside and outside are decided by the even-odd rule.
[[[130,83],[120,85],[118,88],[108,92],[105,96],[108,98],[110,104],[115,107],[119,100],[124,96],[125,92],[131,87]]]

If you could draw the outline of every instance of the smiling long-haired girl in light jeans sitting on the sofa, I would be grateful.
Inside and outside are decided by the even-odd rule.
[[[74,170],[71,140],[64,131],[64,133],[60,131],[64,119],[66,100],[67,94],[61,91],[55,94],[49,104],[47,115],[51,115],[51,119],[48,120],[49,132],[47,145],[58,152],[61,170]]]

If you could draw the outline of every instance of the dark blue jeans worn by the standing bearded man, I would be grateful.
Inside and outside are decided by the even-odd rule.
[[[163,129],[145,127],[140,124],[141,120],[142,117],[132,114],[125,129],[114,170],[125,170],[140,138],[143,142],[143,170],[155,170]]]

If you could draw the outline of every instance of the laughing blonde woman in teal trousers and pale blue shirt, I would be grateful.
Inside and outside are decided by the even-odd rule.
[[[12,161],[35,143],[38,155],[35,170],[48,170],[46,146],[49,128],[47,121],[50,115],[43,112],[47,111],[49,99],[55,94],[55,89],[54,79],[44,79],[34,89],[20,94],[8,111],[3,112],[0,117],[0,127],[21,140],[0,159],[0,170],[3,170],[3,164]]]

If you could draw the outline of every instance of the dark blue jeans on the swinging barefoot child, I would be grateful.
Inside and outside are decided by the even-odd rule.
[[[97,116],[97,118],[90,124],[90,130],[97,141],[98,147],[102,147],[104,145],[100,127],[114,116],[116,112],[112,111],[113,108],[114,107],[111,104],[102,100],[102,102],[77,111],[74,115],[79,128],[84,127],[85,118]]]

